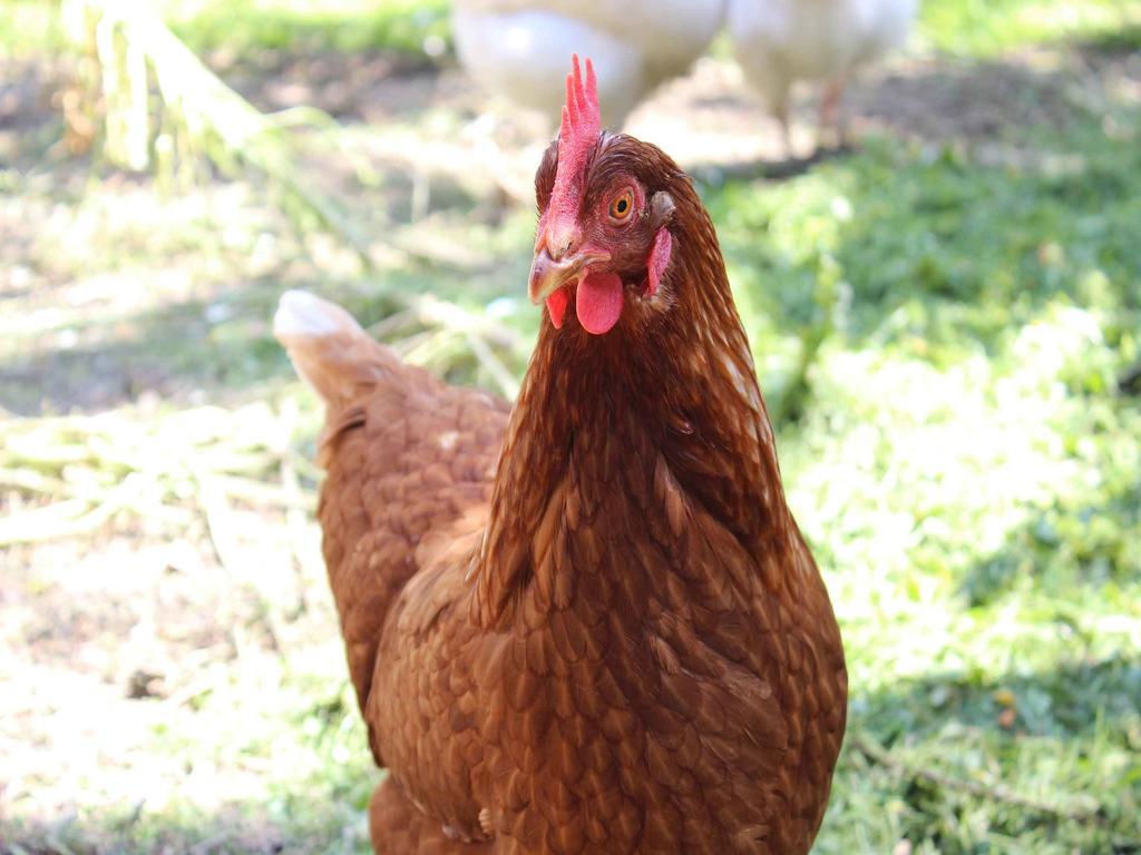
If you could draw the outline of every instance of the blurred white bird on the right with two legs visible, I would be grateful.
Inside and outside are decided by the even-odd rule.
[[[730,0],[729,33],[748,82],[780,122],[792,155],[788,107],[798,80],[824,84],[820,137],[843,144],[840,96],[853,72],[907,40],[917,0]],[[819,140],[818,140],[819,141]]]

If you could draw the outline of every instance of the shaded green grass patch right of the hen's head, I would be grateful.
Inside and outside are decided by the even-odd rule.
[[[1042,160],[1023,165],[880,142],[818,171],[817,199],[747,184],[707,188],[706,196],[727,223],[729,261],[763,279],[775,324],[802,323],[820,308],[815,286],[826,259],[851,290],[849,341],[880,337],[884,320],[904,309],[900,332],[936,343],[968,333],[993,347],[1012,321],[1059,295],[1141,308],[1133,229],[1141,149],[1090,123],[1042,142]],[[834,242],[816,234],[787,246],[763,239],[790,225],[778,205],[806,202],[841,221]],[[1097,271],[1103,276],[1091,291]]]

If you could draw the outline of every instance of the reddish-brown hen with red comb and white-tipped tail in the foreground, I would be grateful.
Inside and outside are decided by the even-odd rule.
[[[589,63],[535,185],[548,311],[513,408],[311,295],[276,318],[329,406],[373,847],[806,853],[843,650],[713,226],[665,154],[599,130]]]

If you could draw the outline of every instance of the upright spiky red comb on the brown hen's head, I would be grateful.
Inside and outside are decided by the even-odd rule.
[[[577,54],[570,57],[570,64],[573,68],[567,74],[567,101],[563,105],[563,124],[559,125],[559,165],[544,217],[548,228],[564,235],[569,234],[568,229],[578,213],[582,171],[602,128],[594,66],[590,59],[586,60],[586,80],[583,81]]]

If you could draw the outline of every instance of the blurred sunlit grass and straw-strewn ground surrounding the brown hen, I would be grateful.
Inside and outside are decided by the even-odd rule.
[[[534,125],[445,2],[152,8],[253,131],[152,66],[129,172],[59,7],[0,2],[0,852],[364,853],[268,321],[309,287],[511,394]],[[819,853],[1141,852],[1139,48],[1130,0],[931,0],[858,148],[782,179],[722,44],[633,119],[697,176],[844,632]],[[687,155],[706,121],[745,154]]]

